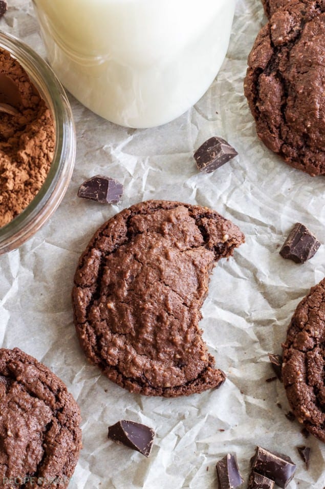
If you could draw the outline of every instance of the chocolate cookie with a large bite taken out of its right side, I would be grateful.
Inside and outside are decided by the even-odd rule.
[[[96,232],[81,256],[74,320],[88,359],[112,381],[153,396],[218,387],[198,327],[209,273],[244,241],[206,207],[149,200]]]

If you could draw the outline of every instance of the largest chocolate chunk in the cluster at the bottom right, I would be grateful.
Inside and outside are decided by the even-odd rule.
[[[258,472],[258,474],[274,480],[279,487],[287,487],[296,470],[296,465],[290,457],[277,452],[270,452],[261,446],[256,446],[256,452],[251,462],[253,472]]]

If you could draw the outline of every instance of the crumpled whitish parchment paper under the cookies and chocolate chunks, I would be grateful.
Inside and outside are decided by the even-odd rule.
[[[283,384],[272,377],[268,352],[281,342],[299,300],[324,275],[325,250],[302,265],[279,247],[295,222],[324,243],[324,178],[292,169],[258,141],[243,95],[247,55],[266,22],[259,0],[239,0],[227,58],[203,98],[155,129],[115,126],[69,96],[77,130],[72,181],[60,207],[31,240],[0,257],[0,340],[53,370],[82,414],[83,449],[69,489],[212,489],[215,463],[237,454],[247,485],[255,445],[286,453],[297,464],[290,489],[321,489],[325,446],[305,439]],[[45,56],[30,0],[11,0],[0,29]],[[239,156],[217,171],[196,170],[192,154],[212,135]],[[77,197],[81,182],[102,173],[124,184],[118,205]],[[209,206],[240,226],[246,243],[213,270],[201,327],[218,368],[219,390],[187,398],[133,395],[86,362],[76,338],[71,288],[80,253],[97,227],[129,205],[149,199]],[[277,403],[281,404],[279,409]],[[148,459],[107,439],[107,426],[132,419],[156,431]],[[311,447],[309,471],[296,446]]]

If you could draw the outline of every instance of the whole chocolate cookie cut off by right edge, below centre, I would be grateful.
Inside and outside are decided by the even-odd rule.
[[[325,442],[325,279],[301,300],[283,344],[282,374],[293,413]]]

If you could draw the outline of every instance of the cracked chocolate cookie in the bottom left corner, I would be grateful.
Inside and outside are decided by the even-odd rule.
[[[56,375],[18,348],[0,349],[1,487],[68,487],[79,423],[78,405]]]

